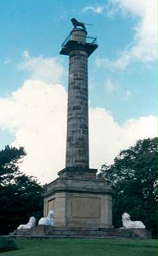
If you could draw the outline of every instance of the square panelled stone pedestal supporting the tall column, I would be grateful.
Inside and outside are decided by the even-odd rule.
[[[54,227],[112,228],[112,191],[96,172],[66,168],[46,186],[44,216],[54,209]]]

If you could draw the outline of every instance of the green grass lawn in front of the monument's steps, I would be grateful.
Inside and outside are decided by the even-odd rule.
[[[157,240],[32,239],[16,241],[19,250],[1,256],[156,256]]]

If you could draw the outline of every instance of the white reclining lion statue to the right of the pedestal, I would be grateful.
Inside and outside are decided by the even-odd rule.
[[[123,213],[122,220],[123,220],[122,229],[145,229],[145,225],[143,224],[143,222],[139,220],[136,220],[136,221],[131,220],[131,216],[127,212]]]

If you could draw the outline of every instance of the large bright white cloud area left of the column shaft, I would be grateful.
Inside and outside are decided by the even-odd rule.
[[[27,80],[10,98],[0,99],[0,127],[15,133],[13,145],[27,155],[21,170],[51,181],[64,168],[67,92],[60,84]]]

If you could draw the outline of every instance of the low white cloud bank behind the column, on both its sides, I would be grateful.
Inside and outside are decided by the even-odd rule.
[[[0,98],[0,128],[15,133],[27,151],[21,171],[51,182],[65,167],[67,92],[60,84],[27,80],[9,98]],[[138,139],[157,136],[157,118],[118,125],[105,109],[90,109],[90,167],[99,168]]]

